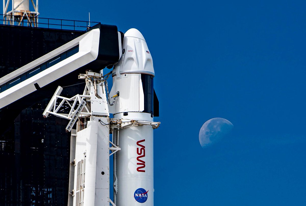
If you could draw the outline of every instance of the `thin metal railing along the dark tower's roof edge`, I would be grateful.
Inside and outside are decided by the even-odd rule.
[[[89,27],[89,21],[29,17],[30,20],[33,20],[29,22],[27,17],[24,17],[22,21],[18,21],[17,19],[15,19],[14,21],[11,19],[9,20],[8,17],[12,17],[12,15],[0,14],[0,17],[2,17],[2,20],[0,20],[0,25],[27,26],[27,27],[62,29],[62,30],[73,30],[73,31],[84,31],[92,27],[92,26]],[[16,17],[17,16],[15,15],[15,18]],[[58,21],[58,23],[52,21]],[[71,22],[71,25],[69,25],[69,23],[66,22]],[[97,25],[100,22],[91,21],[90,23],[92,25]]]

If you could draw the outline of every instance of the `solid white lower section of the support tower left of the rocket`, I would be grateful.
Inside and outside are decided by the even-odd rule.
[[[73,205],[109,206],[109,126],[92,117],[76,135]]]

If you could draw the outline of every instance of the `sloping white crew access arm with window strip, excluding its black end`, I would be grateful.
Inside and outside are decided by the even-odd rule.
[[[10,82],[13,84],[14,81],[20,82],[10,88],[7,87],[8,89],[0,93],[0,109],[34,92],[37,90],[37,86],[42,88],[97,59],[99,52],[99,37],[100,30],[93,29],[53,50],[52,52],[49,52],[48,54],[43,55],[31,63],[17,69],[16,71],[13,71],[10,74],[0,78],[0,86],[9,85]],[[78,52],[76,51],[75,54],[69,57],[67,55],[67,58],[62,58],[63,60],[60,59],[58,62],[56,59],[58,56],[61,56],[63,53],[77,47]],[[53,59],[55,59],[54,61],[57,60],[58,63],[44,69],[43,71],[40,71],[41,65],[52,63]],[[27,72],[28,74],[30,74],[31,71],[35,72],[35,68],[38,68],[40,72],[30,78],[22,80]]]

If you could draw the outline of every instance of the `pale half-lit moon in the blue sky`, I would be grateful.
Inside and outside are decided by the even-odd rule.
[[[219,142],[232,131],[233,127],[233,124],[229,120],[223,118],[217,117],[207,120],[201,127],[199,133],[199,141],[202,148]]]

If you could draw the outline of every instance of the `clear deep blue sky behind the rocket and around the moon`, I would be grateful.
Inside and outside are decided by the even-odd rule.
[[[39,2],[41,17],[87,21],[90,12],[91,21],[144,35],[162,122],[154,136],[156,206],[306,205],[305,8],[305,1]],[[213,117],[234,131],[202,149],[199,130]]]

